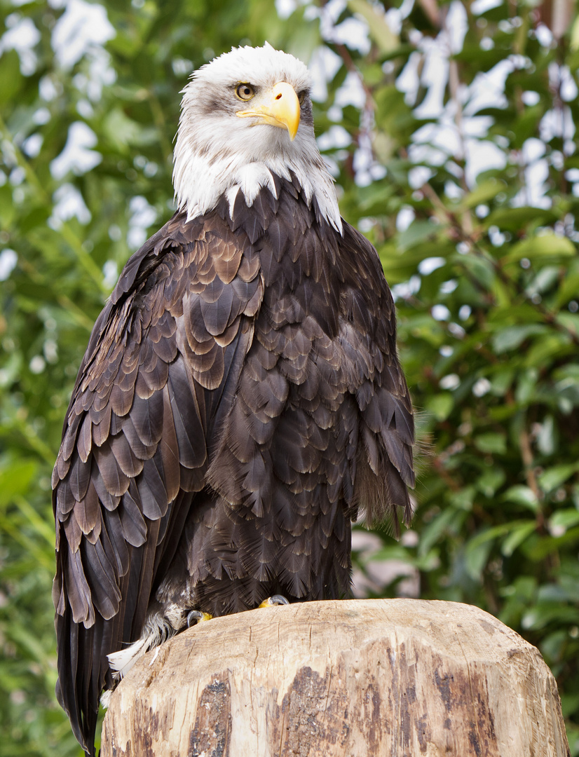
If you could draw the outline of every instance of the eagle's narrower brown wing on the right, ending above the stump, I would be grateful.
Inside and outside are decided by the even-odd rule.
[[[397,355],[394,300],[377,252],[344,222],[341,342],[353,366],[360,410],[354,502],[370,524],[390,519],[398,535],[398,510],[412,516],[414,487],[412,402]]]

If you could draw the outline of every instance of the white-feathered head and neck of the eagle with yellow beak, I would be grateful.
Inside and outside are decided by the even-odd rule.
[[[275,195],[272,173],[297,176],[307,201],[341,232],[332,176],[313,133],[311,79],[293,55],[233,48],[193,73],[183,90],[173,185],[188,220],[238,192],[248,205],[260,188]]]

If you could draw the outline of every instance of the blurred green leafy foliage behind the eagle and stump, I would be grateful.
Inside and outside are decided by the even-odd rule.
[[[550,3],[394,2],[388,23],[367,0],[297,4],[285,19],[266,0],[59,5],[0,2],[2,754],[79,755],[54,700],[50,473],[64,411],[117,273],[172,213],[179,90],[214,55],[268,39],[325,61],[316,131],[344,217],[397,296],[424,452],[414,538],[378,532],[372,559],[405,562],[421,597],[481,606],[539,646],[579,755],[574,4],[559,4],[564,29]],[[110,39],[83,46],[75,8],[97,14],[92,29],[107,18]],[[496,97],[478,104],[485,77]]]

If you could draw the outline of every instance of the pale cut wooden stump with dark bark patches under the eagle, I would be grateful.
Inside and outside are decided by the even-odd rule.
[[[567,757],[539,651],[482,610],[349,600],[201,623],[111,698],[102,757]]]

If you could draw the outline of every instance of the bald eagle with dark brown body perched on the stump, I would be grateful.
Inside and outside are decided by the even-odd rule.
[[[188,624],[347,596],[351,523],[411,514],[413,423],[378,255],[341,219],[310,75],[234,48],[185,87],[179,210],[95,323],[54,466],[57,695]]]

